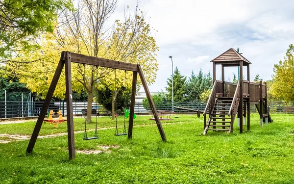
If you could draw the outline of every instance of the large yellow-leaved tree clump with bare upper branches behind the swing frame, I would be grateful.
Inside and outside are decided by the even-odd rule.
[[[133,13],[127,8],[123,20],[116,20],[112,26],[108,26],[117,0],[82,0],[73,4],[76,5],[75,10],[64,10],[60,14],[54,33],[38,40],[40,50],[19,52],[11,59],[13,61],[7,62],[8,75],[18,76],[32,92],[45,97],[61,51],[70,51],[140,64],[147,82],[154,82],[155,72],[158,70],[155,59],[158,47],[151,35],[152,30],[145,21],[145,14],[138,9],[138,6]],[[131,73],[128,73],[127,78],[126,87],[130,87]],[[117,85],[114,88],[115,81]],[[113,91],[111,98],[114,101],[124,85],[123,81],[124,75],[117,75],[117,79],[114,80],[113,69],[72,64],[73,90],[77,92],[85,90],[88,94],[87,122],[91,122],[94,87],[111,89]],[[54,96],[64,98],[64,94],[65,77],[61,76]],[[114,117],[114,108],[112,116]]]

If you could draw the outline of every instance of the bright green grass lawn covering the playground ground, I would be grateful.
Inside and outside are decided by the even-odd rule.
[[[208,131],[203,135],[203,117],[177,115],[162,122],[167,142],[162,142],[149,116],[137,116],[133,139],[114,136],[114,129],[99,130],[99,139],[82,140],[75,134],[76,150],[103,150],[100,154],[76,154],[69,161],[67,136],[38,139],[31,155],[25,155],[28,140],[0,144],[0,183],[3,184],[293,184],[294,114],[272,114],[273,123],[260,128],[259,116],[251,116],[250,132]],[[114,127],[109,117],[99,127]],[[102,121],[103,120],[103,121]],[[95,119],[94,119],[95,121]],[[122,126],[123,118],[120,119]],[[0,133],[30,134],[35,122],[0,125]],[[74,130],[83,130],[83,119],[74,119]],[[95,124],[91,123],[90,129]],[[65,132],[66,123],[53,130]],[[122,131],[122,129],[120,130]],[[90,134],[94,131],[90,131]]]

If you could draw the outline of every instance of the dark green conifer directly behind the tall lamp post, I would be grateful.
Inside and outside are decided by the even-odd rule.
[[[168,99],[172,101],[172,80],[173,80],[173,101],[185,102],[186,101],[186,77],[180,74],[180,71],[175,67],[173,75],[168,79],[168,87],[166,90],[169,92]]]

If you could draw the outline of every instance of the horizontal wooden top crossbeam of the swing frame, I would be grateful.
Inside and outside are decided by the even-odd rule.
[[[114,61],[111,59],[104,59],[78,53],[71,53],[71,61],[74,63],[138,72],[137,64]]]

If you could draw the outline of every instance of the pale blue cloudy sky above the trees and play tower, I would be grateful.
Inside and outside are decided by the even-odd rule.
[[[117,18],[126,5],[137,0],[120,0]],[[147,12],[147,22],[154,33],[159,52],[159,70],[151,92],[165,90],[173,69],[190,76],[200,68],[212,71],[210,60],[229,48],[240,48],[252,63],[250,79],[257,73],[271,79],[277,64],[294,44],[294,0],[141,0],[139,7]],[[225,79],[233,79],[238,68],[225,70]],[[220,78],[217,68],[217,79]],[[246,72],[244,72],[246,74]],[[143,91],[141,89],[140,91]]]

